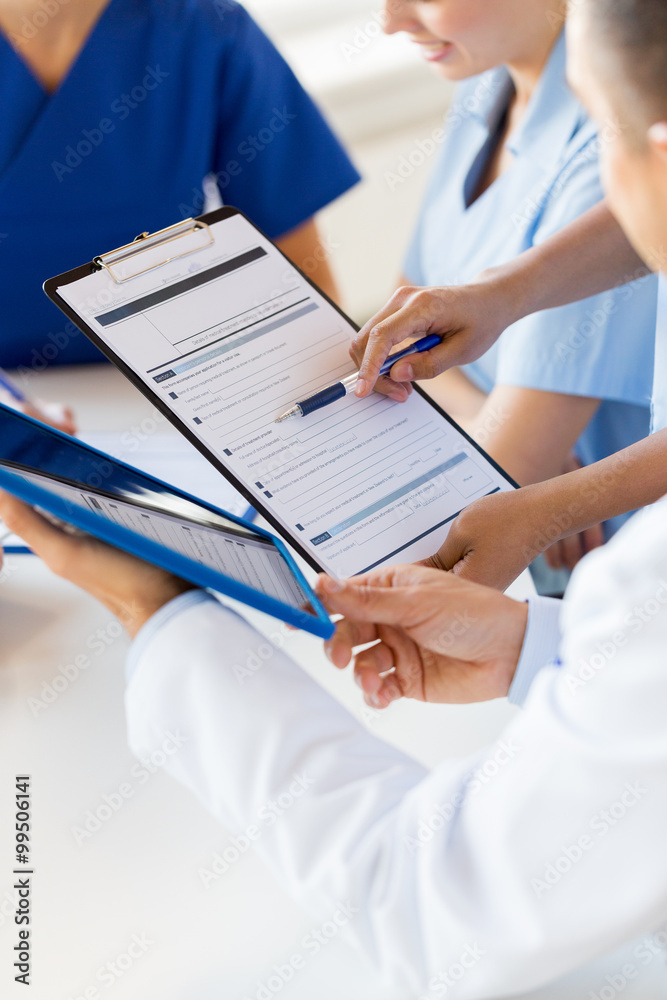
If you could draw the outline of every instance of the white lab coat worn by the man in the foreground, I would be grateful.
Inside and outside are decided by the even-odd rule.
[[[667,914],[666,524],[639,515],[575,571],[563,667],[474,759],[426,771],[212,601],[140,647],[131,747],[178,730],[172,775],[320,919],[344,907],[394,985],[535,988]]]

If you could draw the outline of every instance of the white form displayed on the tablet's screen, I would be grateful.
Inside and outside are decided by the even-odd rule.
[[[307,600],[270,539],[261,538],[250,530],[232,532],[223,518],[212,512],[199,510],[197,515],[198,509],[194,505],[175,497],[174,502],[194,512],[190,518],[179,517],[120,498],[107,497],[97,491],[56,482],[40,473],[14,467],[10,471],[26,482],[55,494],[69,505],[128,528],[142,538],[157,542],[284,604],[299,608]]]

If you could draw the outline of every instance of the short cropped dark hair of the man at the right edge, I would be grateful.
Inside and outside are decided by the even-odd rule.
[[[576,2],[576,0],[575,0]],[[580,0],[581,2],[581,0]],[[595,34],[619,58],[619,81],[648,127],[667,120],[667,0],[584,0]]]

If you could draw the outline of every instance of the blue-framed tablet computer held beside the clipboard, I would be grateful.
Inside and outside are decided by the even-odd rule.
[[[280,539],[1,404],[0,489],[198,587],[333,634]]]

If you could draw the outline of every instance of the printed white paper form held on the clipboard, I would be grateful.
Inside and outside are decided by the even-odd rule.
[[[416,393],[275,424],[354,370],[353,329],[242,216],[211,228],[192,257],[59,294],[311,559],[342,577],[423,558],[472,500],[512,488]]]

